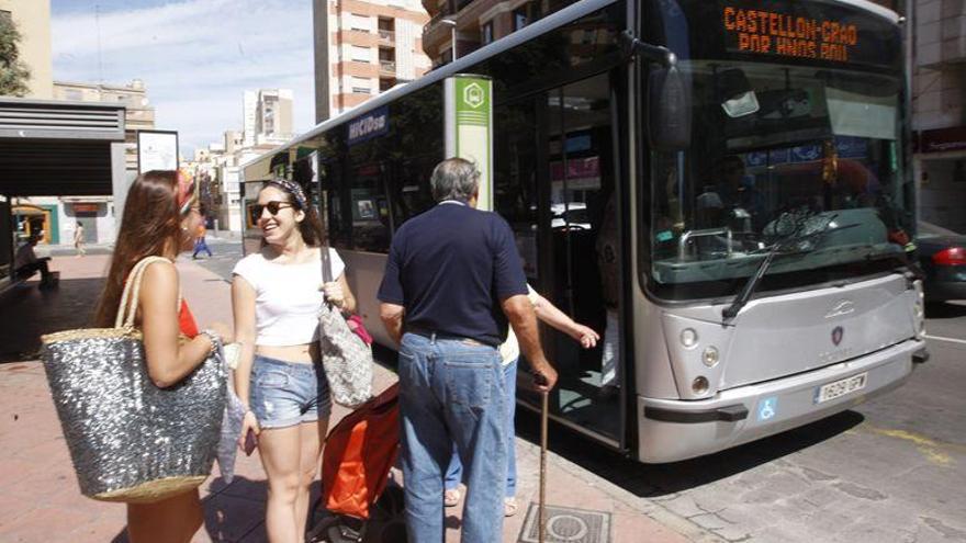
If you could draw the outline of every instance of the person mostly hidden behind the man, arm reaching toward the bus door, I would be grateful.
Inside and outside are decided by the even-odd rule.
[[[593,349],[597,346],[600,336],[587,326],[575,323],[565,313],[560,310],[549,299],[544,298],[529,284],[527,285],[527,298],[533,304],[537,318],[566,333],[584,349]],[[516,514],[517,504],[517,454],[516,454],[516,425],[515,415],[517,408],[517,361],[520,358],[520,347],[516,335],[508,330],[506,341],[499,346],[499,358],[503,363],[504,387],[506,388],[506,488],[503,498],[504,517]],[[463,464],[460,454],[453,446],[452,457],[446,471],[446,491],[443,505],[456,507],[459,505],[462,494],[460,483],[463,480]]]

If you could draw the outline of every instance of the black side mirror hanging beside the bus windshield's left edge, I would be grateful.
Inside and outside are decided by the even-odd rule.
[[[651,65],[648,73],[648,138],[661,151],[690,145],[690,91],[677,67]]]

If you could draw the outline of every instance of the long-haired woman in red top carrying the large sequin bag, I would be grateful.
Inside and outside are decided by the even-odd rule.
[[[147,373],[168,387],[187,377],[209,357],[218,340],[232,341],[231,329],[214,323],[198,330],[182,299],[175,259],[192,248],[201,220],[194,183],[175,171],[142,173],[131,185],[114,247],[111,269],[96,313],[96,326],[112,327],[131,270],[146,257],[135,325],[142,330]],[[145,451],[150,454],[150,451]],[[133,543],[187,543],[203,521],[198,489],[154,504],[127,505],[127,533]]]

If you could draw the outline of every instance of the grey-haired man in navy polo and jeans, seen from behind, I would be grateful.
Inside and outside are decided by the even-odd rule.
[[[380,316],[400,343],[406,527],[419,543],[443,541],[443,475],[453,443],[468,486],[463,543],[503,539],[507,435],[497,346],[507,320],[536,388],[557,383],[513,230],[497,214],[475,210],[479,181],[461,158],[436,167],[438,204],[396,231],[379,287]]]

